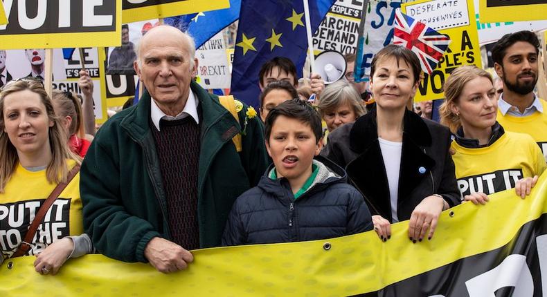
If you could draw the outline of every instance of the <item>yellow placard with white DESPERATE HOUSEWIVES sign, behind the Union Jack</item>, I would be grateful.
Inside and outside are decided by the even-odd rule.
[[[447,7],[448,2],[455,6]],[[442,86],[452,70],[459,66],[482,68],[473,0],[418,0],[402,4],[401,10],[451,39],[449,50],[440,59],[437,68],[431,75],[426,73],[420,82],[414,102],[443,99],[445,93]]]

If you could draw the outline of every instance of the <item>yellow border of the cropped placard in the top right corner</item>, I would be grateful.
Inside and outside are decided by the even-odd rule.
[[[547,3],[487,7],[486,0],[479,0],[478,9],[481,15],[481,23],[541,21],[547,19]]]

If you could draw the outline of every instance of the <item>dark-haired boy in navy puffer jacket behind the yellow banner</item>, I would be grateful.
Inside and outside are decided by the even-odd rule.
[[[292,99],[265,120],[274,164],[258,186],[233,205],[222,245],[320,240],[373,229],[363,197],[346,183],[346,171],[319,155],[321,118]]]

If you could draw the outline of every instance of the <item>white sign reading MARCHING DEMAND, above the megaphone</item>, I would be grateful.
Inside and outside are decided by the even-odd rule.
[[[342,54],[357,51],[362,0],[338,0],[330,8],[313,35],[316,53],[336,50]]]

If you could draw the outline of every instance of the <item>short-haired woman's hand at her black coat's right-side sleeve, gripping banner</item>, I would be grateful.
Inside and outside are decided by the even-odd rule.
[[[427,238],[431,240],[437,227],[437,221],[442,209],[445,209],[445,200],[440,195],[427,196],[412,211],[409,222],[409,238],[412,242],[422,241],[429,229]]]

